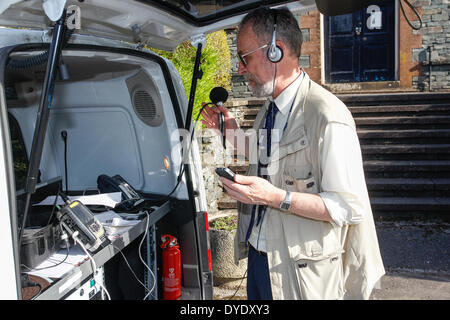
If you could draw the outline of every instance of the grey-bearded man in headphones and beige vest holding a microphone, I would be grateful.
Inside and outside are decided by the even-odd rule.
[[[238,201],[236,262],[248,255],[248,299],[368,299],[384,267],[355,123],[299,67],[301,43],[286,8],[256,9],[239,26],[238,72],[268,100],[241,150],[247,174],[220,178]],[[227,108],[205,107],[203,124],[217,129],[220,112],[238,146]]]

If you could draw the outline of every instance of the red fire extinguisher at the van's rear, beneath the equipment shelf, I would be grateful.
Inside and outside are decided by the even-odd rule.
[[[170,234],[161,237],[163,268],[163,299],[178,300],[181,297],[181,252],[178,241]]]

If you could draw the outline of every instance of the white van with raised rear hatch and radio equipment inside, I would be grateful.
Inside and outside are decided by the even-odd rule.
[[[195,89],[188,101],[147,47],[191,39],[201,54],[204,34],[266,3],[2,0],[0,299],[162,299],[165,234],[181,252],[179,298],[213,298],[200,155],[178,134]],[[108,236],[89,242],[92,226]]]

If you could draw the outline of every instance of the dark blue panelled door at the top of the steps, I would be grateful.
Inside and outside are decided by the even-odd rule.
[[[395,77],[395,2],[325,17],[328,83],[389,81]]]

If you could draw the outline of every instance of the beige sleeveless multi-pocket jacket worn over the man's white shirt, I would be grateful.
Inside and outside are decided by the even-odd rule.
[[[256,117],[256,131],[262,128],[267,105]],[[286,131],[268,166],[276,187],[294,192],[322,191],[320,148],[330,122],[356,130],[347,107],[305,74]],[[256,149],[250,157],[255,154]],[[257,162],[253,159],[251,163]],[[257,175],[256,164],[250,164],[247,175]],[[247,256],[244,241],[251,210],[251,205],[238,204],[236,263]],[[368,299],[384,267],[370,203],[365,210],[360,224],[338,227],[268,208],[266,245],[273,298]]]

